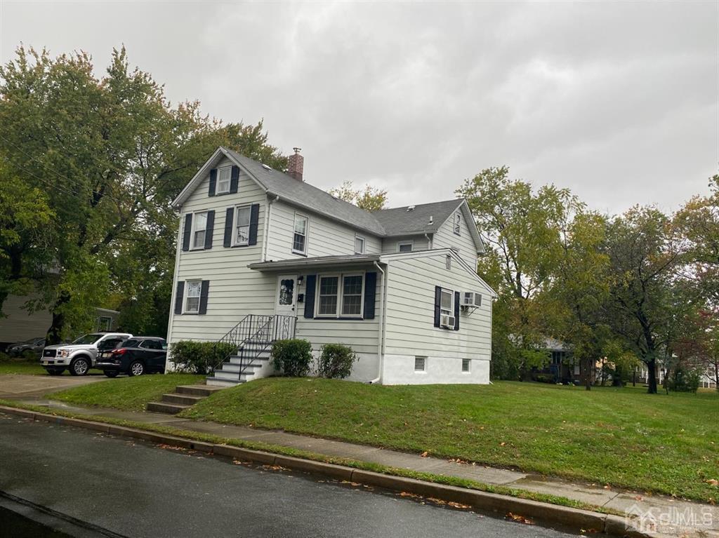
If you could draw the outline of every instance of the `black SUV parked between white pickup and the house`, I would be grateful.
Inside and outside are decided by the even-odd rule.
[[[142,376],[164,372],[168,357],[168,343],[156,336],[134,336],[113,350],[100,353],[97,367],[108,377],[118,374]]]

